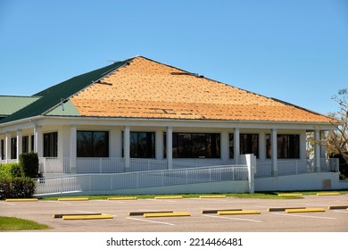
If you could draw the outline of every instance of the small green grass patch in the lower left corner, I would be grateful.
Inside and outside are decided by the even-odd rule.
[[[37,230],[50,229],[47,225],[39,224],[35,221],[19,219],[16,217],[0,216],[0,230],[15,231],[15,230]]]

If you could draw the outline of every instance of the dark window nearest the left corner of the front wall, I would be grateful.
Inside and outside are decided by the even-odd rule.
[[[78,157],[109,157],[109,132],[77,131]]]

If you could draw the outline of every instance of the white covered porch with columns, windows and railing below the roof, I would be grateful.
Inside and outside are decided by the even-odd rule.
[[[36,152],[40,172],[118,173],[240,164],[254,154],[256,178],[338,171],[319,144],[329,125],[307,122],[112,120],[41,117],[0,130],[1,162]],[[315,144],[307,157],[307,132]]]

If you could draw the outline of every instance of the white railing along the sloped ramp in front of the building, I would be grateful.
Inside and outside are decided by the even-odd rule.
[[[36,195],[163,187],[246,179],[248,179],[248,169],[245,165],[114,174],[79,174],[54,179],[37,179]]]

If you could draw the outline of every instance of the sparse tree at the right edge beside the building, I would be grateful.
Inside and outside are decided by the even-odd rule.
[[[327,154],[344,160],[345,167],[340,168],[340,171],[348,178],[348,89],[339,90],[338,95],[333,96],[332,99],[339,105],[339,110],[329,113],[329,116],[334,119],[331,124],[335,130],[327,134]],[[341,162],[340,165],[342,165]]]

